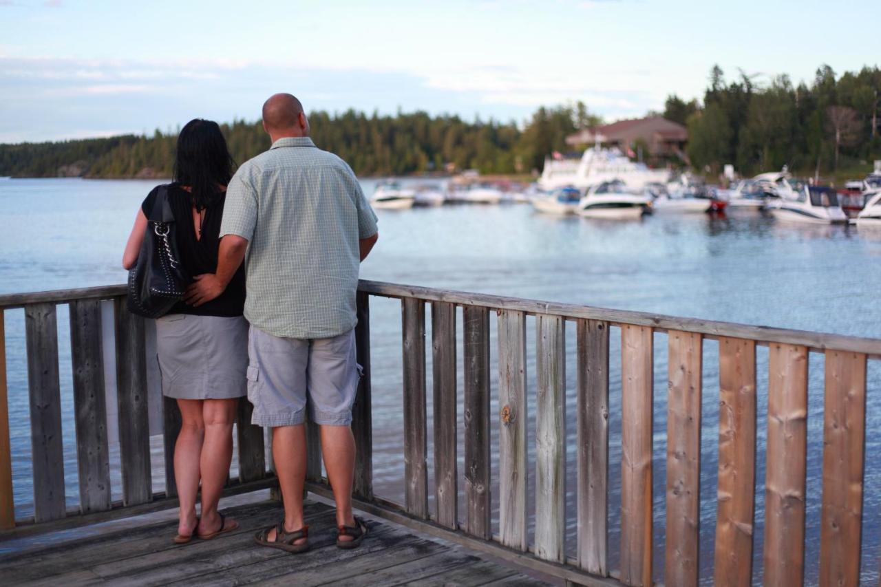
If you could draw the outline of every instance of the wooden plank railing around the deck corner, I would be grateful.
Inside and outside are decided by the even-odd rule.
[[[33,519],[15,520],[5,371],[0,369],[0,524],[10,532],[76,524],[171,507],[174,438],[180,420],[164,410],[166,490],[152,494],[144,367],[144,321],[124,306],[124,287],[0,296],[0,308],[25,308],[33,448]],[[370,377],[371,296],[401,300],[403,332],[403,504],[374,496]],[[107,459],[100,301],[114,300],[122,502],[112,502]],[[80,507],[64,506],[56,305],[70,306],[73,396]],[[764,580],[803,583],[809,353],[825,354],[822,519],[819,582],[857,584],[862,531],[862,479],[867,360],[881,340],[640,312],[467,294],[362,281],[358,294],[359,363],[354,406],[358,445],[355,493],[360,509],[460,542],[539,571],[591,585],[652,583],[654,333],[667,335],[666,527],[664,583],[699,580],[700,449],[703,341],[718,341],[719,468],[714,579],[747,585],[752,578],[756,504],[756,347],[768,346]],[[426,435],[426,306],[431,309],[433,471]],[[463,316],[463,466],[465,519],[458,518],[456,308]],[[496,314],[495,348],[491,315]],[[535,459],[527,446],[529,390],[527,316],[535,316]],[[566,325],[576,338],[575,457],[577,544],[566,555]],[[4,358],[0,311],[0,360]],[[618,570],[609,564],[610,330],[620,331],[621,504]],[[491,413],[491,353],[497,353],[499,411]],[[263,431],[241,402],[238,493],[275,484]],[[499,450],[492,454],[491,435]],[[308,427],[307,487],[329,494],[321,478],[317,429]],[[492,495],[492,463],[498,495]],[[433,473],[433,509],[429,475]],[[535,479],[534,509],[527,479]],[[494,503],[498,519],[493,519]],[[535,516],[529,535],[529,514]],[[499,531],[493,533],[497,523]]]

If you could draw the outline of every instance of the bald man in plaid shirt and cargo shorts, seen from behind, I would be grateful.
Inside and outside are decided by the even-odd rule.
[[[269,151],[248,160],[226,192],[217,272],[196,277],[185,300],[217,297],[245,259],[248,399],[253,423],[272,428],[285,519],[255,536],[263,546],[307,550],[303,524],[308,416],[321,427],[324,466],[337,502],[337,546],[366,534],[352,515],[355,293],[359,262],[379,234],[352,169],[309,138],[300,100],[263,104]]]

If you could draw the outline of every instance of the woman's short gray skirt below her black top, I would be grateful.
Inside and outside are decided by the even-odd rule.
[[[162,394],[179,399],[248,395],[248,321],[170,314],[156,321]]]

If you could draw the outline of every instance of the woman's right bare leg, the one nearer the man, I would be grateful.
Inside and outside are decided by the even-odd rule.
[[[220,530],[218,502],[233,458],[233,422],[238,404],[238,398],[204,400],[202,418],[205,422],[205,442],[199,463],[202,472],[200,534]]]

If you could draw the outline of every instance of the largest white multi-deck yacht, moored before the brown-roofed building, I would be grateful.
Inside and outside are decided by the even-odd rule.
[[[584,190],[617,179],[630,189],[643,189],[650,182],[666,182],[669,175],[666,169],[649,169],[644,163],[627,159],[616,148],[594,146],[585,151],[581,159],[546,158],[538,185],[546,190],[567,185]]]

